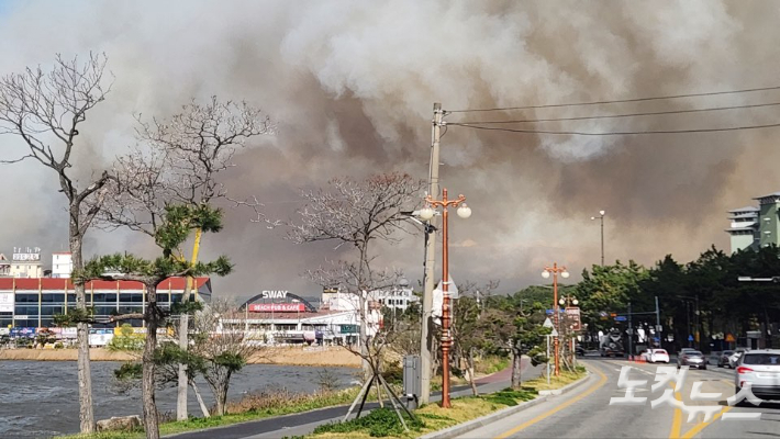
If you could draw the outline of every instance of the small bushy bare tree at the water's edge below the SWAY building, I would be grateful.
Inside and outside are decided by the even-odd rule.
[[[230,301],[212,302],[194,316],[197,334],[192,352],[203,360],[202,375],[216,402],[215,415],[225,414],[231,378],[260,347],[248,339],[241,313]]]

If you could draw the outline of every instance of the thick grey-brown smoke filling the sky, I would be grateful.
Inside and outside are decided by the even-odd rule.
[[[227,181],[287,217],[298,188],[331,177],[403,170],[425,178],[433,102],[446,110],[536,105],[778,86],[780,10],[772,2],[232,1],[10,2],[0,10],[0,71],[105,52],[115,83],[82,131],[81,171],[132,143],[132,114],[168,115],[191,97],[245,99],[279,123]],[[448,121],[537,119],[780,101],[780,91],[664,102],[456,113]],[[773,123],[776,108],[582,122],[546,130],[681,130]],[[521,127],[520,125],[515,127]],[[450,270],[539,283],[546,263],[579,272],[608,260],[653,263],[727,247],[725,211],[780,190],[780,131],[583,137],[450,126],[442,179],[473,216],[453,219]],[[3,149],[12,143],[0,137]],[[20,150],[20,149],[16,149]],[[89,166],[85,166],[89,160]],[[66,243],[64,200],[33,162],[0,168],[0,251]],[[215,282],[316,293],[299,274],[332,245],[293,246],[231,211],[208,256],[236,273]],[[96,233],[90,251],[140,249],[143,237]],[[420,279],[422,237],[383,251]]]

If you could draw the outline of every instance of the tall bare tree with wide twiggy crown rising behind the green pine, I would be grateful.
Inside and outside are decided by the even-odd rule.
[[[274,134],[276,127],[259,109],[246,102],[222,102],[212,97],[207,104],[191,102],[168,121],[136,117],[140,146],[120,157],[114,166],[118,184],[101,219],[112,227],[127,227],[154,236],[165,206],[170,203],[207,206],[227,200],[220,173],[234,167],[237,148],[255,136]],[[243,203],[255,206],[253,203]],[[208,224],[194,226],[190,263],[196,263]],[[175,249],[181,260],[187,256]],[[190,300],[188,278],[183,301]],[[179,346],[187,349],[189,316],[179,317]],[[177,419],[185,420],[189,374],[179,364]]]

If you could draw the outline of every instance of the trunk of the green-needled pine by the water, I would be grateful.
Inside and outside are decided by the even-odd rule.
[[[157,309],[157,284],[146,285],[148,305],[144,315],[146,322],[146,342],[143,354],[143,378],[141,381],[141,395],[143,399],[144,429],[146,439],[159,439],[159,419],[157,403],[155,402],[155,362],[154,354],[157,349],[157,326],[159,312]]]

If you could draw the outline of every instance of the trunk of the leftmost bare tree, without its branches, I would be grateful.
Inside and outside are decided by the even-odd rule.
[[[74,271],[83,269],[81,255],[82,236],[79,230],[80,210],[78,205],[70,206],[70,222],[68,227],[70,257]],[[87,309],[87,297],[82,281],[74,282],[76,291],[76,307]],[[89,325],[80,322],[76,324],[76,339],[78,342],[78,399],[79,424],[82,434],[94,432],[94,407],[92,405],[92,373],[89,363]]]

